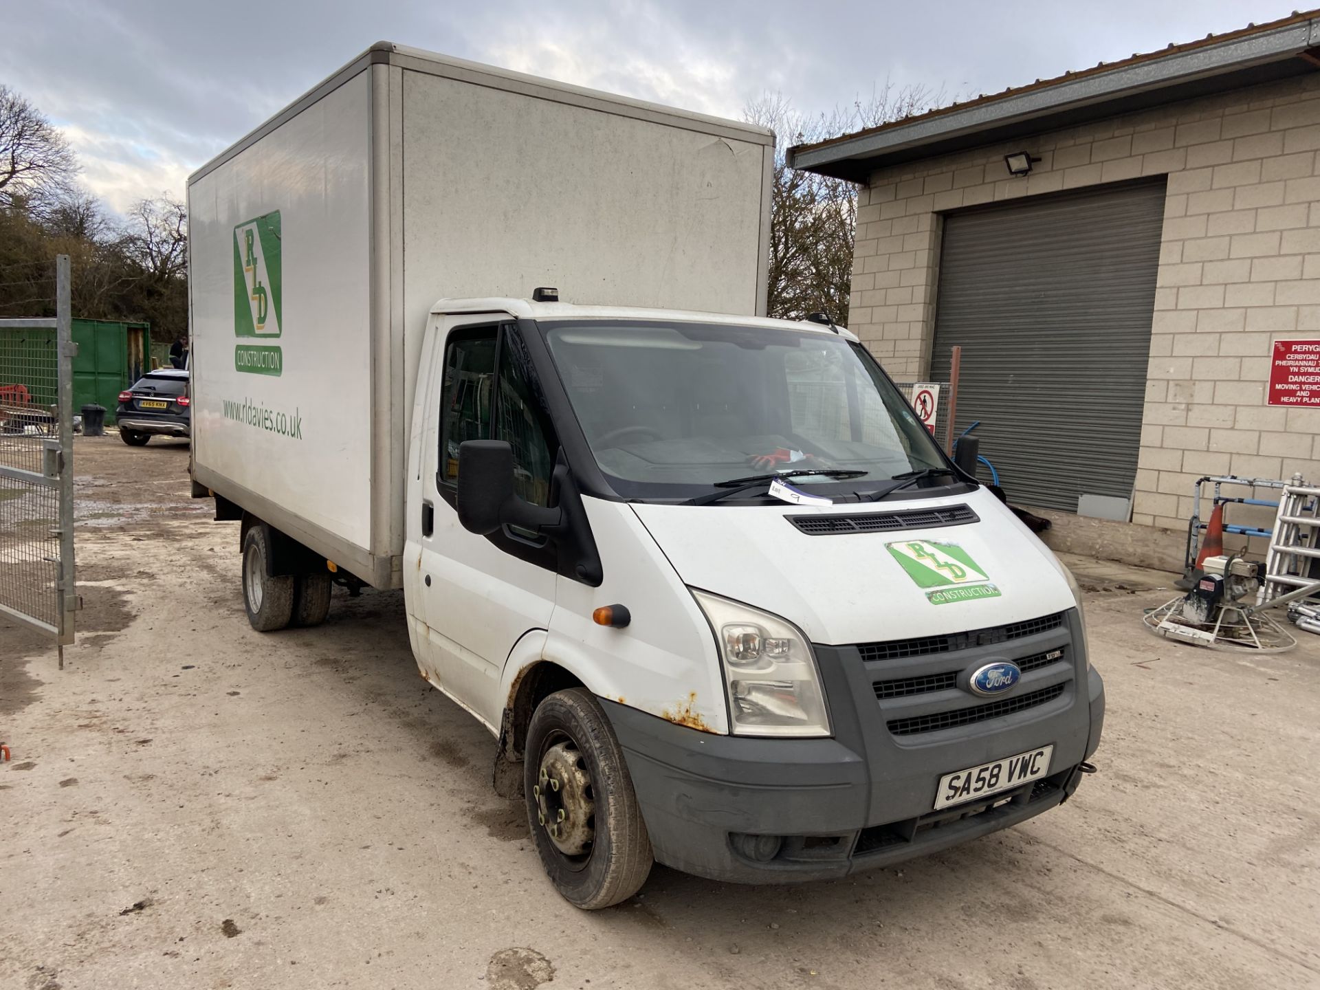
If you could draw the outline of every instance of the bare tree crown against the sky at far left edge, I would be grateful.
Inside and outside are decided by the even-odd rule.
[[[26,99],[0,86],[0,206],[63,197],[78,160],[65,136]]]

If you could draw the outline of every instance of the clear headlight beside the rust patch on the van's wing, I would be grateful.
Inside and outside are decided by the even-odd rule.
[[[735,735],[829,735],[816,655],[776,615],[693,591],[715,632]]]

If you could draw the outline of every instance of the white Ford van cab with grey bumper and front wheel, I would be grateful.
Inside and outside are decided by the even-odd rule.
[[[888,866],[1090,770],[1076,583],[845,329],[441,300],[404,499],[418,668],[579,907]]]

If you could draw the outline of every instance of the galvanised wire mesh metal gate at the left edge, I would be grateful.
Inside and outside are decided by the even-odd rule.
[[[61,667],[78,609],[69,293],[59,255],[55,317],[0,319],[0,615],[49,632]]]

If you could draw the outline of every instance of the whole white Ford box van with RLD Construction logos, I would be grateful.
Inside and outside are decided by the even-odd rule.
[[[1100,741],[1067,570],[851,334],[756,315],[772,154],[378,45],[189,181],[194,492],[251,623],[403,587],[579,907],[942,849]]]

